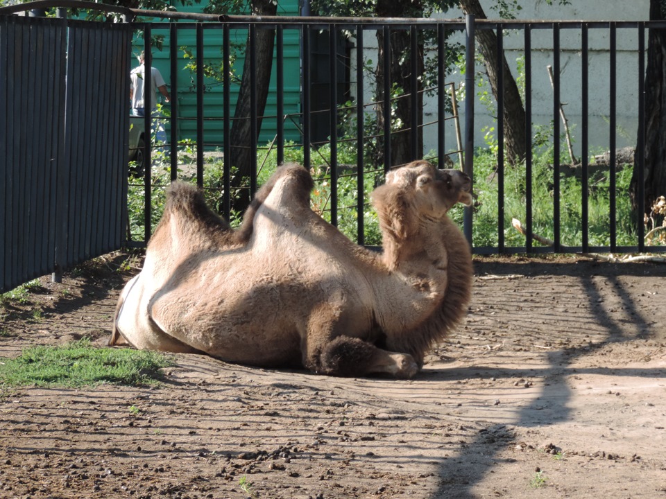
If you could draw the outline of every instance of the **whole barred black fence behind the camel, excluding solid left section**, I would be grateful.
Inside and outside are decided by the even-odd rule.
[[[633,159],[629,166],[622,168],[622,164],[617,165],[619,158],[616,155],[618,137],[623,145],[635,147],[635,162],[638,164],[635,168],[638,175],[635,204],[644,206],[646,39],[649,29],[663,28],[664,23],[497,22],[475,21],[472,17],[446,20],[228,16],[221,17],[220,22],[171,24],[168,33],[167,28],[155,24],[136,26],[147,29],[148,33],[160,32],[167,37],[175,37],[182,30],[196,30],[196,98],[201,110],[196,116],[196,181],[204,186],[204,170],[207,168],[205,151],[219,146],[224,158],[224,184],[217,188],[222,193],[219,208],[227,216],[232,209],[234,193],[238,192],[237,186],[232,184],[231,168],[239,166],[231,164],[232,149],[251,149],[251,165],[245,188],[253,193],[257,189],[257,168],[261,168],[261,165],[257,165],[257,157],[261,160],[264,155],[262,150],[266,148],[265,143],[258,141],[259,123],[265,126],[267,121],[275,120],[277,132],[269,146],[275,148],[277,162],[282,162],[285,157],[285,139],[283,103],[280,98],[284,94],[287,80],[298,78],[302,107],[298,115],[300,141],[295,147],[302,149],[302,161],[308,165],[320,161],[318,150],[330,150],[323,174],[323,181],[330,192],[322,211],[334,224],[341,222],[342,209],[352,211],[357,220],[357,231],[349,235],[361,244],[368,244],[363,216],[368,210],[364,175],[372,173],[373,168],[393,168],[421,157],[432,159],[440,165],[446,163],[447,155],[454,154],[458,147],[452,140],[454,124],[447,121],[452,114],[452,102],[446,89],[447,85],[453,83],[463,85],[466,89],[463,103],[463,168],[476,177],[478,202],[476,207],[458,216],[464,219],[464,231],[475,253],[664,251],[664,246],[657,242],[658,238],[646,240],[649,225],[635,222],[635,216],[631,213],[631,172],[628,174],[627,170],[632,170]],[[260,82],[256,76],[254,58],[257,33],[260,30],[275,30],[278,112],[271,116],[262,115],[256,97]],[[298,33],[300,38],[302,65],[298,75],[285,75],[280,71],[284,57],[283,40],[291,32]],[[514,76],[520,78],[525,111],[523,140],[526,155],[524,161],[516,166],[506,161],[504,120],[497,117],[486,119],[485,128],[490,128],[494,133],[491,146],[479,141],[479,137],[484,135],[484,123],[479,123],[477,118],[475,125],[475,109],[479,109],[479,101],[473,96],[478,82],[476,73],[479,71],[475,60],[475,40],[480,33],[488,32],[496,37],[499,71],[499,98],[493,109],[495,116],[504,113],[504,56],[509,59],[509,65],[514,66]],[[249,35],[248,57],[253,58],[249,65],[253,78],[246,82],[253,96],[249,112],[240,118],[233,114],[234,106],[230,96],[237,89],[237,82],[230,80],[230,67],[225,63],[221,81],[224,105],[219,115],[215,115],[214,110],[206,104],[210,97],[205,93],[204,60],[200,54],[209,40],[221,39],[223,60],[226,62],[233,54],[229,40],[244,40],[245,33]],[[400,71],[409,73],[409,77],[400,80],[400,84],[409,86],[413,91],[404,88],[394,91],[398,77],[395,73],[391,74],[391,70],[381,72],[375,66],[368,71],[366,68],[368,60],[375,63],[382,60],[387,68],[394,64],[395,54],[392,51],[396,49],[393,40],[398,33],[404,35],[403,41],[406,41],[400,53],[404,64]],[[351,49],[347,53],[339,52],[341,36],[349,41]],[[309,82],[312,79],[314,45],[317,47],[316,57],[328,55],[330,79],[335,82],[330,85],[329,94],[324,96],[323,107],[334,110],[327,114],[322,114],[321,103],[317,106],[319,110],[313,110],[314,97]],[[322,50],[326,45],[327,51]],[[456,46],[464,53],[463,67],[450,64],[450,52]],[[173,62],[178,58],[178,46],[171,43],[170,47]],[[422,54],[422,59],[411,57],[411,54],[418,53]],[[622,58],[620,67],[618,57]],[[563,59],[566,60],[563,62]],[[345,92],[352,100],[351,109],[343,109],[340,98],[341,60],[348,71]],[[432,63],[429,64],[429,74],[424,71],[427,65],[423,64],[424,60]],[[520,61],[521,67],[515,68],[516,60]],[[318,60],[317,66],[322,66],[321,60]],[[546,67],[549,69],[550,82],[545,79]],[[593,73],[590,74],[590,71]],[[382,79],[375,80],[379,73]],[[175,87],[171,90],[172,93],[178,91]],[[391,105],[382,105],[384,96],[391,96]],[[321,98],[321,94],[318,98]],[[402,114],[397,116],[400,101],[406,105]],[[574,113],[564,123],[561,121],[564,116],[563,101],[568,101],[570,107],[574,108]],[[355,116],[353,134],[340,131],[339,120],[343,112]],[[425,119],[426,115],[433,118]],[[177,115],[171,116],[173,143],[177,141],[178,127],[174,123],[178,119],[181,118]],[[252,123],[246,144],[232,141],[231,130],[239,119],[248,119]],[[324,126],[330,132],[325,140],[313,134],[315,128],[321,129],[322,119],[328,121]],[[214,120],[223,123],[223,137],[218,141],[210,139],[207,132],[207,123]],[[370,128],[368,123],[374,128]],[[396,152],[398,147],[395,144],[399,137],[408,138],[406,154],[404,151],[402,154]],[[350,143],[356,149],[355,164],[342,164],[339,152],[343,147],[348,150]],[[368,148],[377,149],[374,157],[368,157]],[[479,166],[475,165],[475,157],[478,158],[479,154],[483,156],[484,149],[492,149],[495,155],[492,175],[488,175],[486,170],[479,170]],[[603,164],[594,159],[595,156],[601,156],[601,152],[606,152]],[[544,161],[547,165],[544,165]],[[178,177],[178,166],[177,157],[172,156],[171,178]],[[149,180],[150,176],[151,172],[147,171],[144,185],[152,184],[154,188],[155,182]],[[348,183],[350,176],[356,177],[355,206],[346,204],[342,207],[339,200],[341,182]],[[515,180],[516,177],[520,177],[520,180]],[[348,190],[347,184],[345,189]],[[492,191],[492,195],[488,195],[488,191]],[[574,195],[572,191],[578,194]],[[146,192],[150,190],[146,189]],[[576,206],[572,205],[574,201]],[[517,202],[520,207],[516,206]],[[150,206],[151,203],[147,201],[146,205]],[[489,221],[490,211],[493,212],[494,221]],[[144,240],[150,236],[153,223],[151,213],[146,212]]]

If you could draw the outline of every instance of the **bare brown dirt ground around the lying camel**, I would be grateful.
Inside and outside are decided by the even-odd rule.
[[[104,345],[127,258],[0,310],[0,356]],[[179,355],[154,389],[4,389],[0,498],[666,498],[665,278],[475,259],[466,322],[413,380]]]

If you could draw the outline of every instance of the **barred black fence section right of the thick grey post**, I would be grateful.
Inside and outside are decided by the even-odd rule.
[[[468,37],[481,30],[497,33],[499,71],[497,113],[490,125],[497,131],[497,169],[493,180],[484,182],[478,177],[478,161],[474,165],[479,199],[484,189],[493,189],[493,183],[497,184],[497,242],[490,241],[486,245],[488,239],[485,238],[484,244],[477,243],[477,229],[482,222],[480,210],[475,210],[474,227],[470,233],[466,232],[474,252],[666,252],[663,244],[651,245],[645,239],[649,227],[641,223],[642,216],[638,222],[633,220],[635,213],[630,206],[633,186],[626,175],[626,170],[629,169],[631,175],[633,168],[638,184],[635,204],[644,206],[647,201],[644,199],[645,40],[648,29],[664,28],[663,21],[471,21],[468,19]],[[505,43],[509,37],[511,43]],[[620,37],[622,46],[618,42]],[[520,40],[520,45],[516,40]],[[549,45],[544,40],[549,40]],[[470,41],[467,43],[470,49]],[[508,45],[511,46],[506,49]],[[518,56],[523,61],[522,73],[517,71],[513,77],[520,76],[524,85],[526,156],[520,164],[511,165],[506,161],[504,122],[498,116],[502,116],[506,103],[502,58],[506,57],[511,63]],[[468,62],[469,57],[468,53]],[[545,67],[549,69],[550,85],[548,80],[543,84]],[[545,116],[544,109],[550,103],[549,116]],[[570,106],[566,107],[565,116],[563,110],[567,104]],[[574,108],[573,113],[570,107]],[[633,114],[627,114],[628,108]],[[484,149],[478,141],[482,125],[478,123],[478,116],[477,124],[473,124],[471,113],[465,119],[466,139],[474,141],[478,154]],[[545,120],[549,121],[546,125]],[[626,123],[630,123],[631,128],[624,128]],[[572,127],[570,140],[568,134]],[[538,140],[543,130],[548,132],[547,143]],[[635,142],[627,144],[631,137],[626,136],[634,133]],[[616,164],[620,136],[625,145],[635,146],[635,157],[624,168]],[[544,151],[544,144],[552,148],[550,153]],[[469,154],[470,150],[467,152]],[[606,160],[597,162],[597,158],[603,156],[601,152],[605,152]],[[552,154],[552,159],[548,154]],[[634,161],[635,167],[631,164]],[[510,177],[511,186],[507,184]],[[516,177],[520,178],[519,182],[515,181]],[[515,193],[522,207],[516,206]],[[512,227],[512,218],[518,213],[520,220],[517,221],[523,224],[524,236],[519,236]],[[507,237],[511,238],[510,242],[505,240]],[[522,241],[518,242],[518,238]]]

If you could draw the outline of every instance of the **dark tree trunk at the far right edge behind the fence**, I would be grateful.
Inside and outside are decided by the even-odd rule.
[[[650,0],[650,20],[666,19],[663,1]],[[638,165],[634,162],[631,177],[631,204],[642,223],[652,204],[666,195],[666,30],[651,29],[647,46],[645,71],[645,201],[639,206]],[[638,156],[638,155],[635,155]]]

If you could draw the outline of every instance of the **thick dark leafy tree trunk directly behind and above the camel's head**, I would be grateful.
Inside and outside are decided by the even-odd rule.
[[[420,0],[378,0],[377,1],[377,17],[421,17],[422,8]],[[418,53],[411,54],[411,41],[408,30],[391,30],[391,62],[390,67],[384,67],[384,33],[382,30],[377,30],[377,44],[379,45],[378,61],[377,61],[377,128],[379,133],[384,130],[384,105],[390,105],[388,98],[391,96],[384,96],[384,75],[388,71],[388,78],[390,81],[400,87],[401,97],[398,99],[397,108],[395,110],[395,120],[400,120],[402,126],[400,130],[391,133],[391,158],[384,158],[384,148],[381,146],[381,141],[378,148],[379,163],[384,163],[386,167],[391,168],[402,164],[407,164],[414,159],[420,159],[423,154],[423,132],[422,128],[418,128],[423,122],[423,94],[422,94],[422,74],[424,71],[423,64],[423,45],[422,42],[418,44]],[[407,56],[405,56],[407,55]],[[416,73],[418,76],[416,89],[411,87],[411,67],[412,58],[416,57]],[[411,119],[411,104],[412,92],[417,92],[417,122],[412,123]],[[417,157],[412,157],[411,153],[411,128],[415,126],[418,128],[418,139],[416,144]]]

